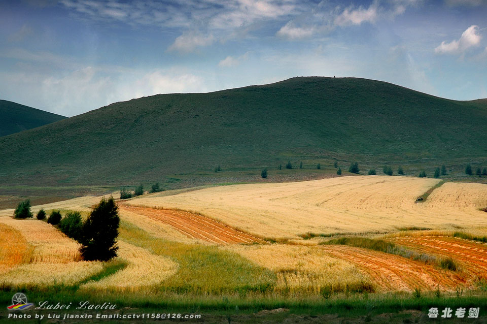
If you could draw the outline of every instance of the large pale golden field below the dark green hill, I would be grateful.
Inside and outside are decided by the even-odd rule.
[[[454,226],[487,225],[487,218],[481,217],[484,214],[478,210],[486,203],[487,185],[446,183],[426,202],[414,203],[439,181],[353,176],[243,184],[166,197],[153,195],[126,204],[193,210],[267,238],[296,239],[307,232],[392,232],[409,226],[453,230]],[[465,196],[465,190],[472,195]]]

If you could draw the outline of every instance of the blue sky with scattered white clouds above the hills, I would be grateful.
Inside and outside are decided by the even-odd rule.
[[[0,1],[0,99],[56,114],[296,76],[487,98],[487,0]]]

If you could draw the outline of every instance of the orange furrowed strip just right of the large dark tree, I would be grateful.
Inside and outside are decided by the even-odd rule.
[[[235,230],[228,225],[194,213],[119,204],[121,210],[144,215],[174,226],[190,238],[213,243],[264,243],[262,239]]]

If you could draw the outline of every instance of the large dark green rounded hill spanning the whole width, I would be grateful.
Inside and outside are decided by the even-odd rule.
[[[148,96],[3,137],[0,177],[15,184],[120,184],[217,165],[255,172],[288,160],[487,161],[485,125],[482,101],[367,79],[300,77]]]

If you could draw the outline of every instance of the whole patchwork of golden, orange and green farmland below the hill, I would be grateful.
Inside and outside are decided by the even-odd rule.
[[[351,176],[119,200],[119,252],[110,262],[80,261],[78,243],[52,225],[0,211],[2,296],[35,288],[127,307],[164,300],[191,312],[230,304],[232,312],[325,304],[341,312],[340,301],[350,301],[364,311],[374,303],[368,312],[377,315],[411,309],[408,300],[424,312],[452,298],[483,305],[487,185],[439,181]],[[86,217],[100,198],[32,210]]]

